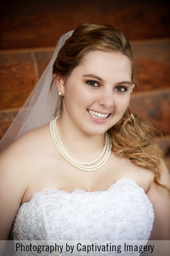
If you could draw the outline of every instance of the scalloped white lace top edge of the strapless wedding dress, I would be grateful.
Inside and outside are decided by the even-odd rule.
[[[47,192],[47,191],[56,191],[56,192],[59,192],[59,193],[63,193],[63,194],[69,194],[69,195],[72,195],[73,193],[75,192],[82,192],[82,193],[87,193],[87,194],[92,194],[92,193],[102,193],[102,192],[107,192],[109,191],[111,188],[115,187],[117,184],[121,183],[123,180],[125,181],[130,181],[131,183],[133,183],[135,186],[139,187],[140,189],[142,189],[142,191],[144,192],[144,188],[143,187],[140,187],[138,184],[136,184],[136,182],[134,180],[131,180],[129,178],[126,178],[126,177],[123,177],[121,179],[118,179],[116,180],[115,183],[113,183],[109,188],[105,189],[105,190],[101,190],[101,191],[92,191],[92,192],[88,192],[88,191],[85,191],[83,189],[74,189],[72,192],[66,192],[62,189],[57,189],[57,188],[43,188],[41,191],[37,191],[35,193],[32,194],[32,197],[29,201],[26,201],[26,202],[23,202],[22,204],[24,203],[28,203],[30,202],[31,200],[33,200],[37,195],[41,194],[41,193],[44,193],[44,192]],[[145,192],[144,192],[145,193]],[[146,194],[146,193],[145,193]],[[20,204],[20,206],[22,205]]]

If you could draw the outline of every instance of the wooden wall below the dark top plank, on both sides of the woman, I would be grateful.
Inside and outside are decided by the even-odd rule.
[[[131,109],[151,118],[170,135],[170,39],[131,42],[136,59],[136,85]],[[0,51],[0,136],[3,136],[45,70],[54,48]]]

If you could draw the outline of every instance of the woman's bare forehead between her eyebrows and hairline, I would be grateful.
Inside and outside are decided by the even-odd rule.
[[[95,74],[102,79],[125,77],[131,79],[131,62],[127,56],[119,52],[92,51],[84,56],[72,74]]]

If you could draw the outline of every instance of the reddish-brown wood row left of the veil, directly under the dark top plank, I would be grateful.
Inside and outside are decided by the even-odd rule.
[[[52,53],[53,48],[0,51],[0,109],[24,104]]]

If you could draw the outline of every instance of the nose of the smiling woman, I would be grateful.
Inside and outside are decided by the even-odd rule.
[[[100,92],[100,98],[98,99],[98,104],[105,108],[111,108],[114,106],[113,91],[102,90]]]

